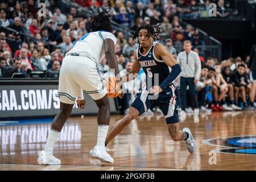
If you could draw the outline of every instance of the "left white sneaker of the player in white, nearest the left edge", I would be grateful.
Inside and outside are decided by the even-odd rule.
[[[55,158],[55,156],[48,155],[44,150],[38,152],[38,164],[40,165],[59,165],[61,164],[60,159]]]

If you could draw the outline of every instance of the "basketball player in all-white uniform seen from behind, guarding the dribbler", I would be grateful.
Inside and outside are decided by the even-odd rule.
[[[53,119],[44,150],[39,152],[39,164],[61,164],[61,161],[53,156],[53,147],[71,114],[75,100],[80,109],[84,109],[83,93],[89,94],[99,109],[97,144],[90,151],[90,156],[102,162],[114,162],[105,149],[110,109],[104,80],[98,67],[105,56],[110,68],[115,69],[115,76],[119,73],[114,51],[117,39],[111,31],[110,15],[104,10],[90,20],[88,34],[84,35],[65,55],[59,77],[60,112]]]

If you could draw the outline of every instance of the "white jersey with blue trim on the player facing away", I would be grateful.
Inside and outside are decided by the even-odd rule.
[[[106,39],[112,39],[114,45],[117,43],[117,39],[110,32],[89,32],[82,36],[68,53],[79,53],[80,55],[88,56],[90,59],[100,63],[105,56],[104,41]]]

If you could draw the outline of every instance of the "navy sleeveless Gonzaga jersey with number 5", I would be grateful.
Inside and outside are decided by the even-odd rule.
[[[156,58],[154,48],[158,42],[153,42],[148,52],[143,55],[139,48],[137,49],[137,58],[143,71],[146,73],[147,90],[152,86],[159,86],[167,78],[170,69],[163,60]]]

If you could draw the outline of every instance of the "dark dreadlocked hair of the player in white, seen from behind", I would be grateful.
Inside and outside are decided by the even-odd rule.
[[[93,18],[90,20],[88,32],[95,32],[95,31],[112,31],[112,23],[110,21],[111,16],[109,14],[109,11],[106,9],[103,9],[103,11],[100,12],[98,10],[98,15],[93,16]]]

